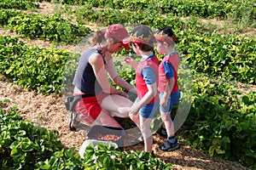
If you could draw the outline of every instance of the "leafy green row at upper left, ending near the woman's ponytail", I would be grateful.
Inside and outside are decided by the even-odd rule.
[[[20,37],[39,38],[54,42],[70,43],[89,34],[90,28],[72,24],[61,14],[26,14],[16,10],[1,9],[0,25],[7,26]]]

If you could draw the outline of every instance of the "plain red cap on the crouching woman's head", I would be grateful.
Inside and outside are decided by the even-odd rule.
[[[125,37],[128,37],[128,31],[125,29],[125,26],[122,26],[120,24],[108,26],[107,33],[110,37],[113,37],[121,42],[125,49],[131,49],[128,44],[124,44],[122,42]]]

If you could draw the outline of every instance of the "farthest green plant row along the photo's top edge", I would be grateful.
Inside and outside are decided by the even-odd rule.
[[[255,15],[255,2],[254,1],[212,1],[212,0],[195,0],[195,1],[182,1],[182,0],[150,0],[150,1],[130,1],[130,0],[90,0],[90,1],[70,1],[61,0],[60,3],[64,4],[80,4],[84,6],[92,6],[96,8],[115,8],[115,9],[128,9],[136,10],[150,10],[157,11],[161,14],[174,14],[177,16],[198,16],[202,18],[218,18],[241,20],[248,17],[250,22],[256,20]],[[252,22],[253,23],[253,22]]]

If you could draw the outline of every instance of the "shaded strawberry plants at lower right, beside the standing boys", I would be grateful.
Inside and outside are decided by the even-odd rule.
[[[183,126],[188,143],[211,156],[255,166],[256,93],[241,94],[227,83],[198,76]]]

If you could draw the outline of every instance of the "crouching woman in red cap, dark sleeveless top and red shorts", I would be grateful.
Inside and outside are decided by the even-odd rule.
[[[131,100],[127,99],[125,92],[108,82],[109,76],[121,88],[136,93],[131,84],[119,77],[111,56],[122,48],[129,49],[122,42],[127,36],[127,30],[119,24],[108,26],[106,31],[96,31],[93,37],[94,47],[84,51],[79,60],[73,79],[73,95],[82,95],[82,99],[75,105],[75,111],[89,125],[121,127],[113,116],[129,117],[125,107],[132,105]]]

